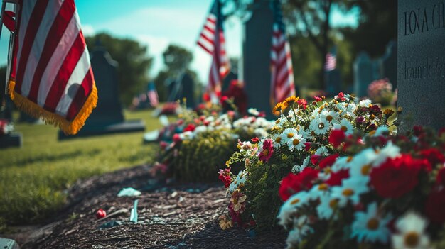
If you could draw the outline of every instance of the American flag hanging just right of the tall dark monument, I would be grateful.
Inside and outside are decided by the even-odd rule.
[[[294,71],[292,69],[291,49],[286,38],[281,4],[273,1],[274,33],[272,35],[270,98],[272,105],[295,95]]]

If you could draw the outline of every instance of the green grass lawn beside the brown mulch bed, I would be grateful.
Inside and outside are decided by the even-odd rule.
[[[146,131],[160,128],[151,111],[125,112],[141,118]],[[0,231],[5,223],[36,223],[65,203],[63,190],[77,179],[153,160],[155,144],[143,145],[144,132],[57,140],[49,125],[16,123],[22,148],[0,150]]]

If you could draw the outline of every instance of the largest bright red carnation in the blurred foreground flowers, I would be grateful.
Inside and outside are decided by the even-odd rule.
[[[371,184],[381,197],[402,197],[417,186],[420,170],[427,167],[427,160],[414,159],[411,155],[389,158],[372,169]]]

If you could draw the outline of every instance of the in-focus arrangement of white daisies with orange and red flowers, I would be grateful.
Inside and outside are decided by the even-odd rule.
[[[336,151],[344,138],[356,132],[377,135],[387,132],[389,128],[385,125],[393,114],[389,109],[382,111],[368,99],[358,101],[343,93],[331,101],[316,96],[311,104],[292,96],[277,104],[274,112],[279,118],[269,135],[238,140],[239,151],[227,160],[227,167],[241,162],[243,170],[237,175],[230,168],[219,172],[231,199],[228,215],[221,218],[222,228],[230,227],[227,223],[240,226],[256,223],[259,229],[276,226],[282,204],[277,193],[283,177],[290,178],[285,178],[282,184],[299,180],[301,185],[295,185],[296,188],[310,184],[318,175],[318,161]],[[280,194],[289,197],[293,193],[280,191]]]

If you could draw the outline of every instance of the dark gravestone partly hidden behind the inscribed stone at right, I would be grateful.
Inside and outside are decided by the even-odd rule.
[[[390,80],[392,89],[397,88],[397,43],[391,41],[382,57],[382,77]]]

